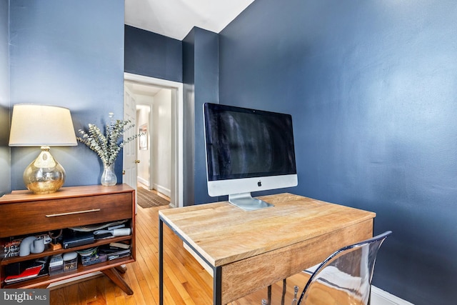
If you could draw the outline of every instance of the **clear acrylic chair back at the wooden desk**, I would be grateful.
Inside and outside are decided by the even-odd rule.
[[[328,256],[309,278],[301,305],[367,305],[378,250],[392,231],[345,246]]]

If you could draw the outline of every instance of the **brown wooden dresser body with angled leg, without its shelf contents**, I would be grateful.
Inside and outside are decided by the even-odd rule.
[[[75,226],[126,221],[131,234],[109,239],[98,239],[91,244],[75,246],[69,249],[45,249],[39,254],[28,256],[3,257],[0,259],[0,288],[44,288],[55,281],[74,276],[101,271],[126,294],[133,291],[126,284],[119,272],[121,265],[135,261],[135,191],[126,184],[116,186],[71,186],[64,187],[52,194],[33,194],[31,191],[13,191],[0,197],[0,241],[3,245],[11,237],[36,236],[49,231],[68,229]],[[130,256],[107,260],[90,266],[78,263],[74,271],[64,271],[55,275],[39,276],[16,283],[6,284],[3,279],[7,266],[22,261],[31,261],[54,254],[89,249],[112,242],[129,244]],[[1,253],[1,251],[0,251]]]

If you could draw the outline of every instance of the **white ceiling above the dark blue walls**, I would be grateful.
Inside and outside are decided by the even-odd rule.
[[[125,0],[124,23],[183,40],[194,26],[219,33],[253,0]]]

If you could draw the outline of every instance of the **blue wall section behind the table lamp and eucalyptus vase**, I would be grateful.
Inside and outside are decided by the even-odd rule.
[[[90,9],[89,9],[90,8]],[[11,1],[11,108],[17,103],[70,109],[75,131],[124,114],[124,1]],[[100,184],[98,156],[84,144],[51,153],[66,169],[64,186]],[[11,148],[11,189],[37,148]],[[122,181],[122,156],[116,160]]]

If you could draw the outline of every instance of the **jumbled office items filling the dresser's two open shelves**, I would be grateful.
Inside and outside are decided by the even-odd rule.
[[[49,234],[43,232],[36,234],[35,240],[48,240],[43,249],[43,252],[46,251],[46,253],[48,251],[52,252],[55,249],[80,248],[81,246],[94,244],[95,241],[108,242],[109,239],[116,236],[130,236],[131,228],[126,227],[126,224],[128,224],[128,219],[63,229],[52,240],[52,243],[49,236],[53,234],[51,232]],[[0,258],[20,256],[19,250],[24,246],[22,243],[27,237],[10,237],[9,239],[1,247],[3,252],[0,253]],[[56,247],[56,245],[59,246]],[[109,244],[102,244],[101,246],[91,246],[86,249],[67,251],[65,253],[44,256],[39,259],[8,264],[4,272],[4,279],[1,279],[1,281],[5,284],[11,284],[39,276],[54,276],[63,272],[76,271],[78,264],[81,264],[81,266],[91,266],[128,256],[131,256],[130,244],[126,244],[125,242],[109,242]]]

